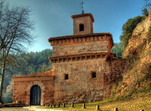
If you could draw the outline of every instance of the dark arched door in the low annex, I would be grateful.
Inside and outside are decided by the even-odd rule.
[[[40,104],[41,104],[41,88],[38,85],[34,85],[30,90],[30,105]]]

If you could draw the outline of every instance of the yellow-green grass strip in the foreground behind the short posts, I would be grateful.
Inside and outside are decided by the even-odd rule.
[[[100,111],[113,111],[114,108],[118,108],[119,111],[150,111],[151,110],[151,93],[140,93],[134,95],[129,100],[116,100],[114,98],[105,99],[98,102],[86,103],[86,109],[83,109],[83,104],[75,104],[74,108],[71,105],[66,105],[65,108],[61,105],[60,108],[50,108],[48,106],[42,106],[40,108],[46,109],[61,109],[68,111],[96,111],[96,105],[100,105]]]

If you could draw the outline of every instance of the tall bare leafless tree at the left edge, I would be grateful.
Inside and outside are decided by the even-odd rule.
[[[0,2],[0,70],[1,87],[0,100],[2,101],[4,76],[8,65],[17,59],[13,55],[24,50],[25,44],[32,42],[30,30],[33,24],[29,18],[30,10],[23,7],[9,8],[9,5]]]

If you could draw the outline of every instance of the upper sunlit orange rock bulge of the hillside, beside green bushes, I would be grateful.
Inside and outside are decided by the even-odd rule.
[[[128,46],[124,51],[124,58],[129,58],[130,56],[138,56],[142,53],[142,46],[150,46],[148,42],[147,33],[151,27],[151,11],[148,17],[140,22],[132,33],[132,38],[128,42]],[[148,42],[148,43],[147,43]],[[146,45],[146,46],[145,46]],[[147,48],[147,47],[146,47]],[[149,48],[149,47],[148,47]]]

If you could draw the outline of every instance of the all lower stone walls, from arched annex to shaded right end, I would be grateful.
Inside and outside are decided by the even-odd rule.
[[[112,95],[112,84],[130,67],[126,59],[106,57],[53,63],[55,77],[16,78],[14,102],[30,104],[30,90],[40,86],[41,105],[58,103],[82,103],[99,101]],[[132,61],[131,61],[132,62]],[[96,72],[96,78],[92,73]],[[65,74],[69,79],[65,80]]]

